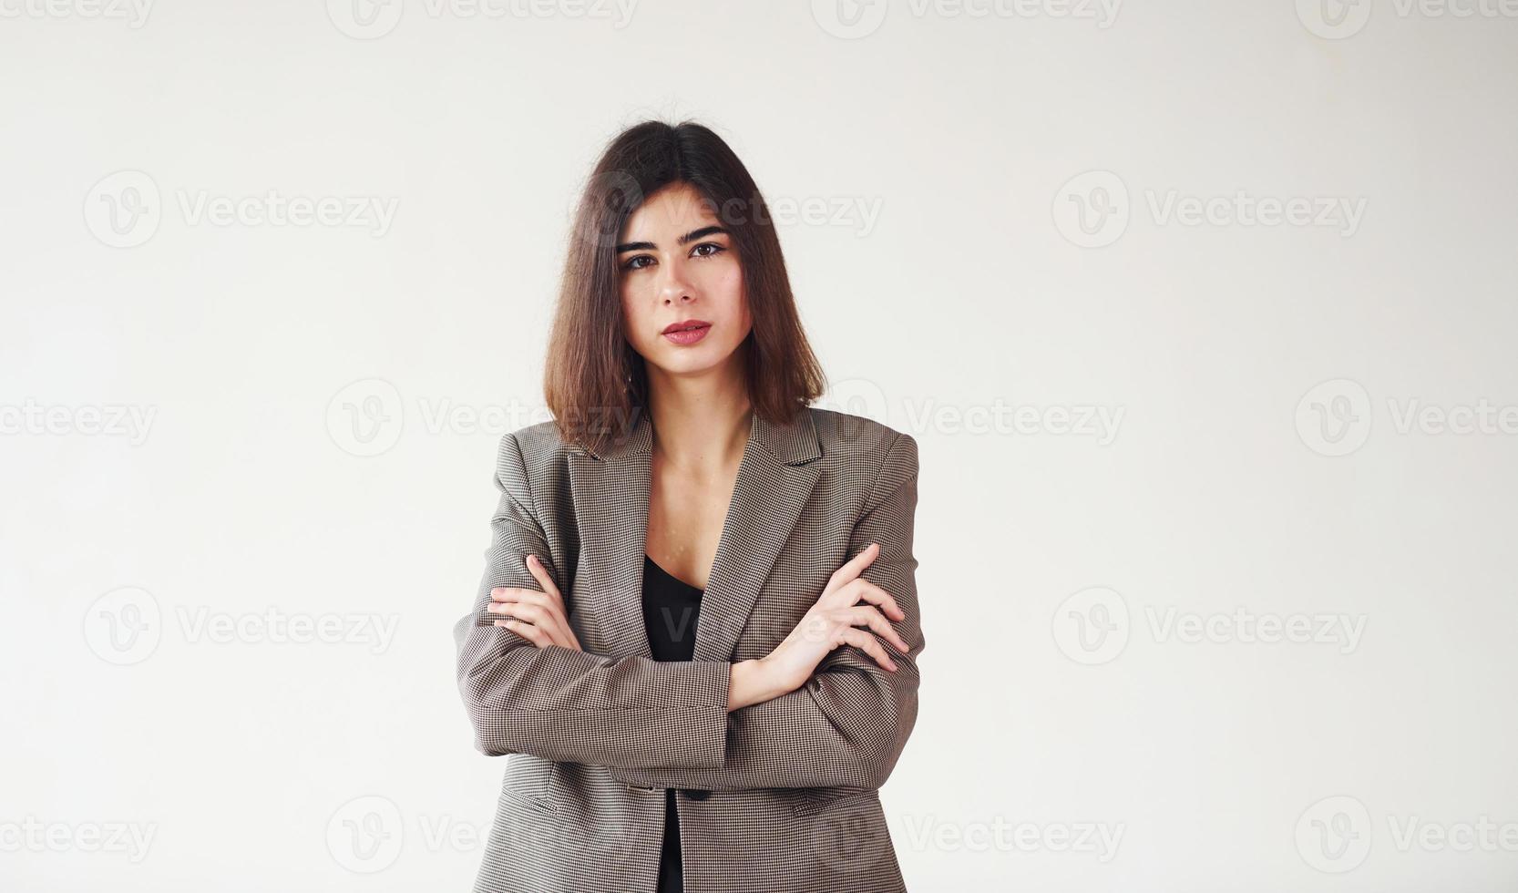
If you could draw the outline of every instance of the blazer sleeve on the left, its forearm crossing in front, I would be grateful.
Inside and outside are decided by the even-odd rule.
[[[501,439],[501,492],[474,611],[454,624],[458,691],[487,756],[530,753],[621,768],[723,765],[732,664],[612,659],[562,645],[539,648],[486,607],[490,589],[542,589],[524,565],[536,554],[562,592],[515,434]]]

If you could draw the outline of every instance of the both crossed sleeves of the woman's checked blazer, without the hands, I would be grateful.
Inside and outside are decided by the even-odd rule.
[[[490,589],[537,588],[522,563],[550,560],[513,434],[501,440],[492,541],[474,612],[454,626],[458,689],[486,755],[530,753],[607,767],[627,784],[703,790],[879,788],[917,720],[917,604],[912,527],[917,442],[891,445],[849,541],[880,554],[861,574],[906,614],[896,624],[909,645],[883,670],[853,645],[827,655],[806,685],[729,712],[732,664],[606,658],[560,645],[537,647],[493,626]],[[550,573],[553,570],[550,568]]]

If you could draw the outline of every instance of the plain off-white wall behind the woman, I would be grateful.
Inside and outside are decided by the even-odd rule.
[[[921,446],[914,891],[1512,890],[1518,9],[439,2],[0,0],[0,888],[468,888],[495,448],[694,117]]]

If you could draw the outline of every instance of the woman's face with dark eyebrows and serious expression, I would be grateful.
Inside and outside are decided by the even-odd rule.
[[[753,319],[732,237],[689,184],[669,184],[627,219],[616,243],[627,340],[650,378],[700,375],[738,363]],[[701,320],[697,331],[665,334]]]

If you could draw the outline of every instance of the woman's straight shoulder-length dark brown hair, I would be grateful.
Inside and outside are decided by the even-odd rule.
[[[543,396],[563,440],[591,453],[630,434],[648,407],[644,358],[622,328],[616,243],[645,197],[676,182],[709,202],[738,249],[753,317],[739,349],[754,412],[786,424],[823,393],[780,238],[748,170],[701,125],[644,121],[612,140],[580,194],[548,339]]]

